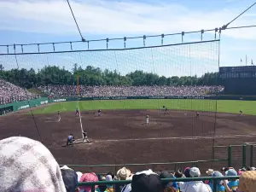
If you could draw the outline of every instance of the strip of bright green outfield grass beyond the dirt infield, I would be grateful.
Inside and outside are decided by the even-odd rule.
[[[57,113],[75,112],[77,107],[81,111],[97,109],[160,109],[166,106],[168,109],[177,110],[198,110],[223,113],[239,113],[242,110],[245,114],[256,115],[256,101],[234,101],[196,99],[144,99],[144,100],[97,100],[83,102],[56,102],[46,108],[40,108],[34,113]]]

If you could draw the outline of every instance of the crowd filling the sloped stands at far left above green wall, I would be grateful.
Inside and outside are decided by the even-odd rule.
[[[27,99],[37,99],[38,97],[40,96],[0,79],[0,105],[9,102],[26,101]]]

